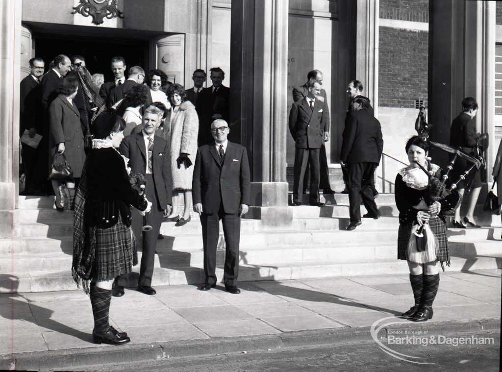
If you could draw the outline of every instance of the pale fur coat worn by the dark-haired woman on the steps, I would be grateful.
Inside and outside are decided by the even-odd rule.
[[[178,169],[176,161],[181,153],[188,154],[192,164],[195,164],[197,155],[197,135],[199,131],[199,118],[195,106],[190,101],[182,102],[178,109],[173,106],[171,112],[171,126],[167,138],[171,139],[171,172],[173,190],[191,190],[193,165],[185,168],[181,164]]]

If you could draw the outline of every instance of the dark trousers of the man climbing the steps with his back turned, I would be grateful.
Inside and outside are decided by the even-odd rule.
[[[355,163],[348,165],[348,200],[350,222],[361,219],[361,197],[364,207],[371,214],[378,214],[373,198],[375,163]]]

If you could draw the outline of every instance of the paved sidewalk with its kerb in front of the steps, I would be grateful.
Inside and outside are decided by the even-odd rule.
[[[499,328],[500,275],[500,269],[443,273],[433,319],[403,326],[465,332],[487,321]],[[228,337],[232,343],[235,338],[245,340],[242,347],[253,347],[255,340],[257,348],[266,347],[264,339],[285,335],[301,335],[307,343],[309,337],[336,332],[345,341],[370,339],[368,327],[373,322],[413,305],[408,275],[248,282],[239,287],[239,295],[225,292],[221,284],[207,292],[191,285],[156,287],[156,296],[126,289],[123,297],[112,298],[110,309],[110,324],[131,337],[123,346],[92,343],[90,301],[81,290],[1,295],[0,369],[8,369],[13,360],[17,368],[40,369],[43,363],[36,360],[45,358],[43,365],[48,366],[50,358],[77,358],[91,351],[103,360],[107,352],[108,359],[123,360],[124,355],[133,358],[130,352],[135,348],[162,343],[197,344],[199,349],[206,345],[209,352],[224,352],[221,340]],[[219,348],[211,348],[218,342]],[[36,365],[24,364],[29,360]]]

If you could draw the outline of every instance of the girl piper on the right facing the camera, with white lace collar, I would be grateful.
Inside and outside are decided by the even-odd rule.
[[[414,321],[432,319],[432,303],[439,287],[439,265],[450,265],[444,213],[456,207],[458,192],[432,195],[441,169],[428,162],[429,143],[413,136],[406,143],[410,165],[396,176],[399,209],[398,259],[407,260],[415,305],[401,316]],[[436,184],[431,184],[431,178]],[[444,191],[444,184],[442,190]],[[418,235],[418,236],[417,236]],[[420,237],[422,235],[422,237]]]

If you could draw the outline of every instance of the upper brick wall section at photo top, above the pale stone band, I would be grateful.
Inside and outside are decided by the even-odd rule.
[[[429,22],[429,0],[380,0],[380,18]]]

